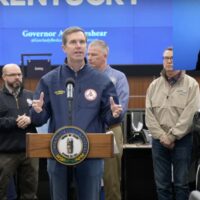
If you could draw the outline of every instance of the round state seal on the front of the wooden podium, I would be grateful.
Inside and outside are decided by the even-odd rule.
[[[54,133],[50,147],[53,157],[59,163],[76,165],[87,157],[89,140],[82,129],[76,126],[64,126]]]

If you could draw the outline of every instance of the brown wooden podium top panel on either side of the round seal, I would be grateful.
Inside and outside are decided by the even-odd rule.
[[[30,158],[50,158],[51,133],[27,133],[26,156]],[[88,133],[89,153],[88,158],[113,157],[113,134]]]

